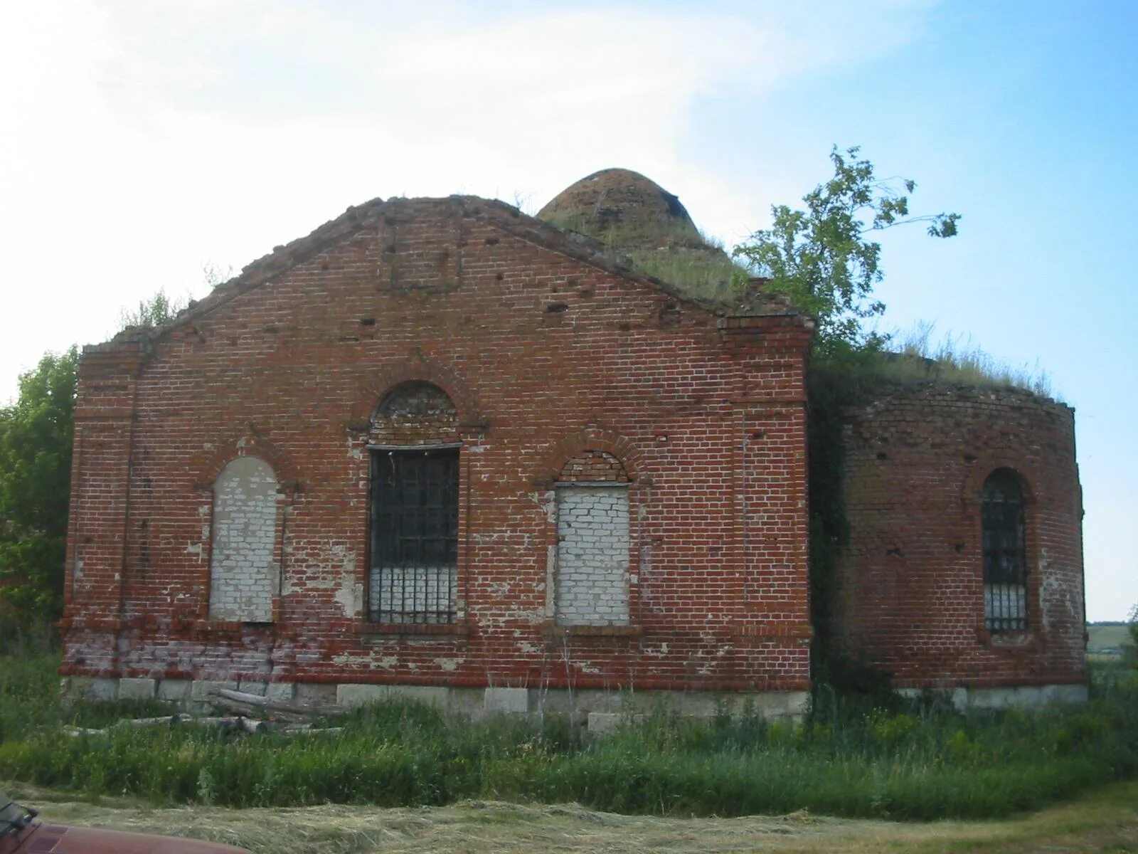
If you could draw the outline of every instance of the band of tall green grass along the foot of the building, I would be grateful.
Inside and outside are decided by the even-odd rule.
[[[155,803],[289,806],[579,802],[627,813],[811,812],[989,818],[1138,773],[1138,679],[1121,671],[1075,709],[960,714],[820,697],[800,726],[660,708],[591,740],[561,721],[478,723],[380,703],[336,736],[238,734],[191,724],[65,738],[107,706],[60,708],[50,659],[0,660],[0,778]],[[44,675],[49,674],[49,675]],[[13,704],[22,707],[13,712]],[[130,709],[113,709],[118,714]]]

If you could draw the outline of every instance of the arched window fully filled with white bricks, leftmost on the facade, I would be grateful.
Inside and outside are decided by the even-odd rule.
[[[230,461],[214,482],[209,618],[269,623],[278,581],[277,476],[256,457]]]

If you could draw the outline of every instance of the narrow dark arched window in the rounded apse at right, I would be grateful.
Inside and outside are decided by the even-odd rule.
[[[984,553],[984,627],[992,632],[1028,627],[1028,570],[1023,488],[1012,469],[984,481],[980,495]]]

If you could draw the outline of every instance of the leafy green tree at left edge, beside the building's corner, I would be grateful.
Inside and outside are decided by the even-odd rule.
[[[63,608],[75,363],[75,347],[44,355],[0,409],[0,601],[23,625]]]

